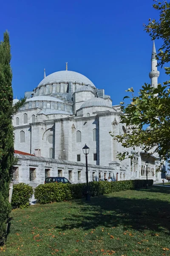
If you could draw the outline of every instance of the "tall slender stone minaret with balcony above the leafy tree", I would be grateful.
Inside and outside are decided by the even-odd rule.
[[[149,77],[151,79],[151,86],[157,87],[159,71],[157,70],[156,49],[155,49],[154,41],[153,41],[152,57],[151,57],[151,72],[149,73]]]

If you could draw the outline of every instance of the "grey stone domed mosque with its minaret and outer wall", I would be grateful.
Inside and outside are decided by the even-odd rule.
[[[153,42],[151,85],[157,86],[156,49]],[[80,73],[57,71],[44,78],[32,91],[25,93],[26,104],[13,117],[14,148],[18,163],[14,166],[14,182],[31,186],[44,183],[45,177],[64,176],[72,183],[85,182],[85,143],[88,154],[89,180],[161,179],[154,155],[146,155],[137,148],[133,160],[120,162],[117,153],[122,145],[109,132],[122,134],[126,127],[120,123],[123,114],[119,105],[112,105],[111,96],[104,89]],[[18,99],[14,99],[14,104]]]

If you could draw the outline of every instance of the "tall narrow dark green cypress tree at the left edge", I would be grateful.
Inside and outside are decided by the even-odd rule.
[[[6,31],[0,42],[0,241],[6,234],[6,221],[11,210],[8,203],[9,183],[14,159],[14,135],[12,115],[20,108],[25,99],[13,103],[12,71],[10,66],[11,47]]]

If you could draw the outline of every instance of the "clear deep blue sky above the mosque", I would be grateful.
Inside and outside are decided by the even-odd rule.
[[[153,0],[6,0],[0,9],[0,40],[8,29],[14,98],[46,75],[73,70],[87,76],[119,104],[133,87],[150,82],[152,41],[143,23],[158,18]],[[161,46],[156,41],[156,49]],[[167,78],[160,70],[159,82]]]

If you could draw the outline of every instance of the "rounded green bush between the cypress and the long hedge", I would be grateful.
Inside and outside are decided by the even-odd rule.
[[[33,195],[33,188],[25,183],[14,184],[12,193],[12,208],[28,207],[29,200]]]

